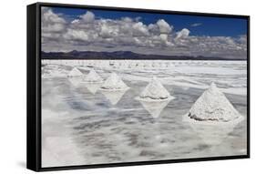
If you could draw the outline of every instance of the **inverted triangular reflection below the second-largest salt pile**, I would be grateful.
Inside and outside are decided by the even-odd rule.
[[[144,100],[139,100],[138,101],[141,103],[141,105],[148,110],[148,113],[153,117],[153,118],[159,118],[159,115],[161,111],[164,109],[164,107],[167,107],[169,104],[170,100],[173,98],[169,98],[168,100],[164,101],[144,101]]]

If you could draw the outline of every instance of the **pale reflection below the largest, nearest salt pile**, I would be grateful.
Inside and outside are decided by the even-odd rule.
[[[243,117],[236,118],[229,122],[197,121],[183,116],[183,121],[191,127],[198,136],[208,145],[220,145],[233,129],[243,120]]]

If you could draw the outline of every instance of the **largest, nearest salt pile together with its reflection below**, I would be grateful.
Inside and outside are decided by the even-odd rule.
[[[243,119],[214,83],[183,116],[183,121],[208,145],[220,145]]]

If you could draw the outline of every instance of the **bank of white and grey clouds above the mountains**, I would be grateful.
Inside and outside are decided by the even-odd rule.
[[[51,8],[42,10],[44,51],[129,50],[148,54],[246,58],[246,45],[246,36],[190,36],[187,28],[176,32],[164,19],[146,25],[139,16],[104,19],[87,11],[67,22]]]

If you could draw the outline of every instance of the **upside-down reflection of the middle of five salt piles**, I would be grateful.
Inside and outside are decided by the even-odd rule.
[[[123,95],[128,91],[125,90],[102,90],[100,89],[101,93],[108,98],[112,105],[117,105],[118,101],[123,97]]]

